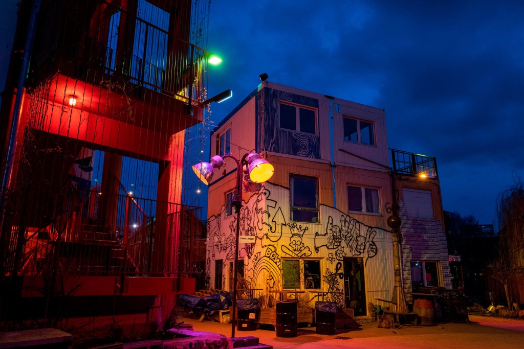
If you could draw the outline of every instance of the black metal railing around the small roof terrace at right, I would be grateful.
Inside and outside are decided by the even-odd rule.
[[[390,149],[390,151],[391,165],[395,173],[407,176],[425,175],[429,178],[439,178],[436,171],[435,157],[395,149]]]

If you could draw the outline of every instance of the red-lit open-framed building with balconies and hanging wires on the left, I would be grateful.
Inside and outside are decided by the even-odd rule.
[[[206,6],[20,2],[0,114],[2,320],[136,331],[194,291],[204,226],[181,205],[182,167],[205,108]]]

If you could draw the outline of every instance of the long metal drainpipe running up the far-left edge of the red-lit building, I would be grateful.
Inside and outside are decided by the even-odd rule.
[[[29,67],[29,60],[31,59],[32,46],[35,41],[36,18],[40,10],[40,0],[34,0],[31,9],[31,17],[29,18],[29,25],[27,28],[26,43],[24,46],[24,57],[20,67],[20,75],[18,77],[18,86],[16,90],[15,105],[13,111],[13,121],[11,123],[11,130],[9,133],[9,143],[5,154],[6,165],[4,176],[2,178],[2,191],[7,189],[10,185],[11,174],[13,172],[13,163],[16,151],[16,134],[18,132],[18,122],[20,120],[20,111],[22,104],[22,97],[24,96],[24,84],[26,82],[26,74]],[[0,196],[0,207],[4,206],[4,195]]]

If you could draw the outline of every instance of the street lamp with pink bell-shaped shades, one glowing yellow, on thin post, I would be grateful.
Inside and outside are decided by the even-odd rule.
[[[235,337],[235,314],[236,314],[236,288],[238,282],[237,264],[238,264],[238,237],[240,235],[240,209],[242,208],[242,189],[246,188],[246,192],[253,191],[253,183],[259,184],[266,182],[274,172],[274,167],[262,159],[262,157],[255,152],[246,153],[238,160],[231,154],[224,156],[215,155],[211,158],[211,163],[200,162],[193,166],[193,171],[199,176],[204,184],[209,184],[214,174],[214,168],[220,168],[224,165],[224,159],[233,159],[236,162],[236,193],[233,199],[233,207],[236,209],[236,233],[235,233],[235,257],[233,262],[233,314],[231,317],[231,337]],[[243,171],[243,166],[246,170]],[[244,174],[244,175],[243,175]]]

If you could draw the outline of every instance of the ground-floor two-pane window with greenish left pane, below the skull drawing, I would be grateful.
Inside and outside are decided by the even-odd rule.
[[[283,289],[320,289],[320,279],[320,260],[282,260]]]

